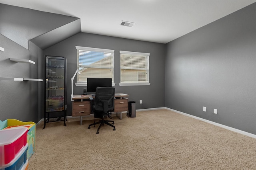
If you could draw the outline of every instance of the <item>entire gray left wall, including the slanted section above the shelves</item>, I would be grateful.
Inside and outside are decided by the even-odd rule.
[[[0,77],[44,79],[43,51],[29,40],[74,20],[77,18],[0,4],[0,47],[5,49],[0,51]],[[30,59],[36,64],[16,63],[10,58]],[[43,111],[44,82],[0,80],[0,120],[37,123]]]

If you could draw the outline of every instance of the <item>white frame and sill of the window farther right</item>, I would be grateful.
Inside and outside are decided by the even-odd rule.
[[[121,67],[121,55],[122,54],[126,54],[126,55],[137,55],[137,56],[144,56],[144,57],[148,57],[148,82],[121,82],[121,70],[122,70],[122,67]],[[120,51],[120,83],[119,83],[119,86],[149,86],[150,85],[150,82],[149,82],[149,56],[150,56],[150,53],[140,53],[140,52],[132,52],[132,51]]]

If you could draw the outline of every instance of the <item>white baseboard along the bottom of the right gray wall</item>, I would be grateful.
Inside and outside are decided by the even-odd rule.
[[[240,134],[242,134],[242,135],[246,135],[246,136],[248,136],[248,137],[253,137],[253,138],[256,139],[256,135],[254,135],[254,134],[252,134],[252,133],[248,133],[248,132],[245,132],[245,131],[241,131],[241,130],[235,129],[235,128],[233,128],[233,127],[229,127],[229,126],[226,126],[226,125],[222,125],[222,124],[220,124],[220,123],[216,123],[216,122],[214,122],[214,121],[209,121],[209,120],[206,120],[206,119],[203,119],[203,118],[200,118],[200,117],[196,117],[196,116],[190,115],[190,114],[188,114],[188,113],[183,113],[183,112],[181,112],[181,111],[177,111],[177,110],[174,110],[174,109],[170,109],[170,108],[168,108],[168,107],[165,107],[165,109],[170,110],[170,111],[174,111],[174,112],[176,112],[176,113],[180,113],[180,114],[182,114],[182,115],[186,115],[186,116],[188,116],[188,117],[192,117],[192,118],[194,118],[194,119],[198,119],[198,120],[201,120],[201,121],[210,123],[210,124],[212,124],[212,125],[216,125],[216,126],[222,127],[222,128],[224,128],[224,129],[228,129],[228,130],[230,130],[230,131],[234,131],[234,132],[236,132],[236,133],[240,133]]]

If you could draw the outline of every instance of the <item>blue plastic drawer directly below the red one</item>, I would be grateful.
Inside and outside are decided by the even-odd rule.
[[[28,166],[27,159],[28,143],[23,147],[15,158],[8,164],[0,166],[0,170],[22,170]]]

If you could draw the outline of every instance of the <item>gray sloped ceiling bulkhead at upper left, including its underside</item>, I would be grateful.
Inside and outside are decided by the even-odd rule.
[[[44,49],[79,32],[79,18],[0,4],[0,33],[26,49],[30,40]]]

